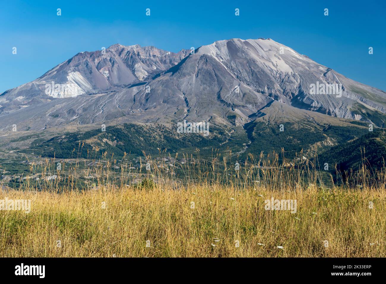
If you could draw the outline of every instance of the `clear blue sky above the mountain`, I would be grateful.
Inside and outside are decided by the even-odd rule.
[[[151,16],[145,15],[146,8]],[[238,17],[235,8],[240,9]],[[40,77],[80,51],[120,43],[176,52],[233,37],[270,37],[386,91],[385,8],[385,0],[2,1],[0,93]]]

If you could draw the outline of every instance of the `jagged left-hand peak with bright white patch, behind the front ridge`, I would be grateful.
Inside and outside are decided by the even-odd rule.
[[[175,66],[189,52],[172,53],[153,46],[120,44],[101,51],[81,52],[36,80],[1,94],[0,114],[46,103],[52,98],[76,97],[139,83]],[[54,88],[47,92],[46,84],[54,84]]]

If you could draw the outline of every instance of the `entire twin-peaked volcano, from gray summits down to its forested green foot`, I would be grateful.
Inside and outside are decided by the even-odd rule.
[[[72,86],[71,93],[46,94],[52,81]],[[216,41],[179,53],[115,44],[78,53],[4,92],[0,105],[1,149],[61,158],[85,143],[117,156],[211,147],[246,156],[284,148],[289,158],[307,159],[386,121],[385,92],[272,39]],[[210,135],[177,134],[184,120],[208,122]],[[111,133],[101,133],[103,124]]]

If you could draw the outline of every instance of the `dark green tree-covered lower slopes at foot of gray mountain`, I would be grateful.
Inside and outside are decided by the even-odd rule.
[[[249,153],[259,155],[263,152],[267,155],[279,153],[284,149],[286,158],[299,159],[302,158],[300,152],[303,156],[312,158],[315,153],[341,145],[368,132],[368,128],[361,122],[351,123],[350,120],[334,117],[329,121],[322,120],[324,115],[315,115],[310,111],[299,113],[308,116],[308,119],[302,118],[301,115],[296,119],[284,119],[279,117],[288,110],[281,109],[281,114],[279,109],[277,111],[275,117],[281,121],[280,124],[269,121],[272,113],[259,117],[244,127],[229,128],[210,124],[208,137],[199,133],[178,133],[176,124],[119,124],[108,126],[104,132],[99,128],[61,134],[51,139],[37,138],[28,149],[19,152],[56,158],[92,158],[91,152],[97,148],[98,153],[107,151],[116,157],[122,157],[125,152],[142,156],[142,151],[157,155],[159,150],[173,154],[191,153],[200,149],[201,157],[208,158],[213,154],[212,150],[216,149],[218,153],[223,154],[232,151],[233,155],[244,160]],[[312,116],[309,116],[310,114]],[[281,124],[283,131],[280,131]]]

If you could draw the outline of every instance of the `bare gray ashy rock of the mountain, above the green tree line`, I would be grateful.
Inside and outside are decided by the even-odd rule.
[[[51,81],[72,86],[71,94],[47,95],[44,87]],[[328,91],[328,86],[341,93]],[[365,121],[371,118],[363,112],[386,112],[382,90],[350,80],[272,39],[216,41],[194,54],[115,44],[105,52],[78,53],[0,95],[0,129],[173,119],[238,125],[267,113],[274,100],[294,111]]]

